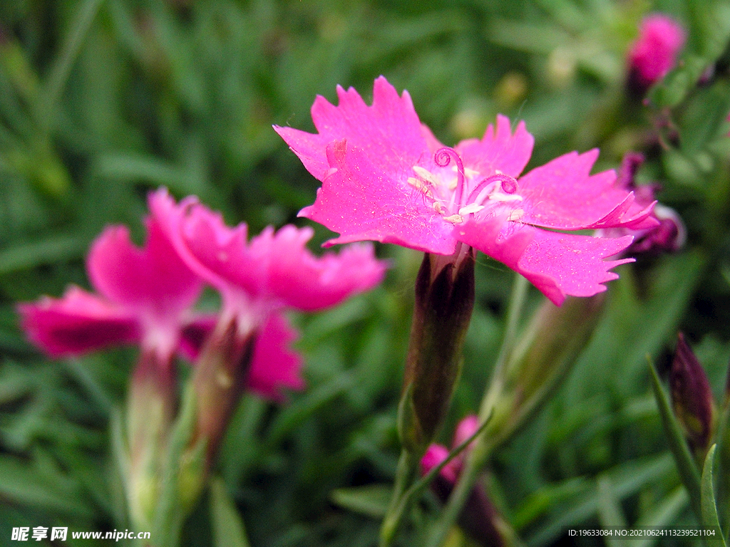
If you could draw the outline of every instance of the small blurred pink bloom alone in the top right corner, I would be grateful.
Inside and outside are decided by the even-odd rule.
[[[669,15],[653,13],[639,26],[639,38],[629,50],[629,78],[639,90],[647,90],[666,76],[684,47],[684,28]]]

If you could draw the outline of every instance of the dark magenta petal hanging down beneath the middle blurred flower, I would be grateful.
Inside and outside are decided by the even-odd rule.
[[[283,389],[304,389],[301,357],[289,349],[296,330],[280,314],[272,314],[261,329],[253,349],[246,385],[259,395],[282,401]]]

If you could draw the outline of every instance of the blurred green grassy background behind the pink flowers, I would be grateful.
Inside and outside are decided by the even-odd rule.
[[[625,55],[650,11],[680,20],[688,44],[642,103],[626,93]],[[502,112],[534,133],[529,167],[591,147],[601,149],[597,168],[617,168],[629,150],[647,156],[639,180],[661,183],[658,198],[682,214],[688,244],[618,268],[590,346],[496,454],[488,484],[531,546],[567,540],[579,525],[694,523],[645,355],[666,366],[684,330],[722,399],[729,36],[730,6],[712,0],[0,1],[0,544],[15,544],[19,526],[123,528],[108,424],[135,358],[118,349],[45,360],[20,332],[15,303],[88,287],[93,238],[124,223],[141,243],[145,196],[161,185],[177,198],[199,195],[251,233],[303,225],[296,212],[318,182],[271,125],[312,131],[315,96],[334,101],[336,85],[351,85],[369,101],[380,74],[409,90],[447,144],[480,136]],[[315,229],[316,251],[328,233]],[[420,263],[407,249],[378,254],[393,265],[383,287],[294,318],[307,389],[283,406],[247,396],[236,415],[217,475],[253,546],[377,538],[377,485],[392,481],[399,453]],[[476,411],[504,329],[512,274],[477,260],[477,309],[444,441]],[[534,309],[542,297],[530,298]],[[208,501],[185,545],[228,544]],[[436,512],[426,497],[404,544],[417,545],[419,519]]]

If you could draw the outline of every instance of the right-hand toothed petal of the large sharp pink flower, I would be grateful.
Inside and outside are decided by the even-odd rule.
[[[616,187],[614,171],[590,175],[597,157],[598,150],[570,152],[520,178],[520,222],[560,230],[656,225],[653,203],[636,203],[633,193]]]

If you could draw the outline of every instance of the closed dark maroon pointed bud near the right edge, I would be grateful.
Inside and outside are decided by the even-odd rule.
[[[695,454],[704,458],[715,421],[715,402],[710,382],[684,335],[677,335],[677,349],[669,371],[672,406]]]

